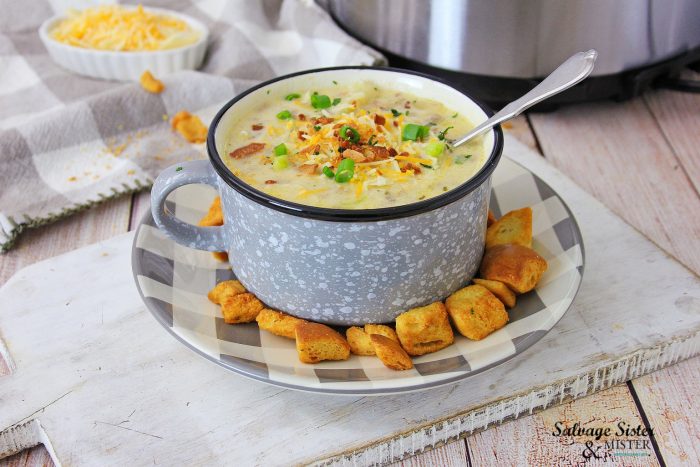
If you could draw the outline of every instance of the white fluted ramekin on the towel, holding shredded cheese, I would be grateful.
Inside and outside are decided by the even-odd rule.
[[[135,81],[146,70],[160,77],[179,70],[199,68],[207,50],[209,38],[207,27],[190,16],[172,10],[163,8],[146,8],[146,10],[185,21],[191,28],[200,32],[199,40],[185,47],[158,51],[120,52],[84,49],[63,44],[51,38],[49,31],[58,21],[65,19],[65,16],[61,15],[44,21],[39,28],[39,37],[57,64],[92,78]]]

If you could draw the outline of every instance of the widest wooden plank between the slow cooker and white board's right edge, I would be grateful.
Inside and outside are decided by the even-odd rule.
[[[643,98],[565,107],[530,121],[547,160],[700,271],[700,197]]]

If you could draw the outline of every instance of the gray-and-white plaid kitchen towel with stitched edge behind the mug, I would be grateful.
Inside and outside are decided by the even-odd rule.
[[[138,84],[72,74],[49,57],[41,23],[82,1],[0,0],[0,248],[53,222],[150,186],[165,167],[203,156],[170,130],[179,110],[205,122],[256,82],[294,71],[372,65],[384,58],[355,41],[310,0],[147,1],[210,30],[200,72],[161,77],[162,94]]]

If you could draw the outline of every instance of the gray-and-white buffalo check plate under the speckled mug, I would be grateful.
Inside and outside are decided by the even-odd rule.
[[[168,203],[178,217],[196,223],[215,195],[209,187],[187,186],[175,191]],[[490,206],[497,216],[532,207],[533,247],[549,269],[534,291],[518,297],[504,328],[481,341],[456,334],[453,345],[414,358],[415,368],[408,371],[393,371],[376,357],[356,355],[347,361],[304,364],[297,358],[293,340],[261,331],[255,323],[225,324],[207,293],[216,283],[234,278],[230,266],[208,252],[168,239],[150,214],[134,238],[134,278],[147,308],[165,329],[236,373],[319,393],[371,395],[428,389],[477,374],[523,352],[559,321],[581,284],[581,232],[549,185],[504,157],[493,175]]]

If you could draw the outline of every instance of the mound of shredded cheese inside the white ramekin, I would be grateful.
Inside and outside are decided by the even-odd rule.
[[[200,34],[185,21],[151,13],[138,5],[101,5],[71,11],[50,32],[51,38],[85,49],[115,51],[166,50],[196,42]]]

